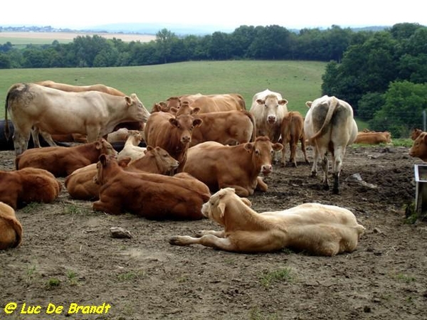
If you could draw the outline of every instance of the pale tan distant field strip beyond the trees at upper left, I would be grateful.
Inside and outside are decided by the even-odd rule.
[[[14,46],[22,46],[27,44],[51,44],[53,41],[59,43],[69,43],[77,36],[101,36],[102,38],[122,39],[122,41],[140,41],[148,42],[155,40],[156,36],[143,34],[125,34],[125,33],[71,33],[71,32],[0,32],[0,44],[6,42],[12,43]]]

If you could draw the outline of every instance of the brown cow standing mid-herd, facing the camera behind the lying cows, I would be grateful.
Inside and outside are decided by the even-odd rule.
[[[179,161],[177,172],[181,172],[186,161],[186,153],[191,143],[194,128],[200,127],[202,120],[192,114],[174,116],[168,112],[153,112],[144,128],[145,142],[150,146],[160,146]]]

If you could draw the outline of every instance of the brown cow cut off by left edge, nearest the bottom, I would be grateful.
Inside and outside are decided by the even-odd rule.
[[[18,247],[22,241],[22,225],[16,218],[15,210],[0,202],[0,250]]]

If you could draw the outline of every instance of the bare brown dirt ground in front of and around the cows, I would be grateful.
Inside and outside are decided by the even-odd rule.
[[[17,210],[23,242],[0,252],[0,319],[427,319],[427,224],[405,217],[415,199],[413,164],[423,162],[406,147],[350,147],[333,195],[309,177],[300,151],[298,159],[297,168],[275,166],[268,192],[250,197],[253,208],[348,208],[366,228],[356,251],[315,257],[172,246],[172,235],[218,225],[106,215],[64,188],[54,203]],[[1,169],[13,164],[13,151],[1,151]],[[111,238],[117,226],[132,238]],[[85,308],[73,313],[76,304]],[[85,314],[87,306],[100,314]],[[22,313],[31,310],[39,314]]]

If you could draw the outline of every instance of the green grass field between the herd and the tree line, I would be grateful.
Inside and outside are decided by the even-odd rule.
[[[48,68],[0,70],[0,100],[16,82],[53,80],[71,85],[103,83],[127,94],[136,93],[151,110],[154,102],[174,95],[237,92],[251,107],[256,92],[282,93],[288,110],[307,112],[305,102],[321,95],[326,63],[310,61],[213,61],[121,68]],[[4,102],[0,103],[4,119]]]

